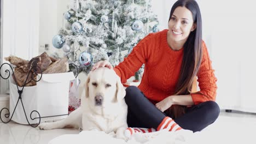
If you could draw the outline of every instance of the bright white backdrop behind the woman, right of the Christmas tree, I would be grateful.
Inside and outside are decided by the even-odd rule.
[[[160,29],[167,28],[172,4],[152,1]],[[256,10],[250,0],[198,0],[206,42],[218,79],[220,109],[256,112]]]

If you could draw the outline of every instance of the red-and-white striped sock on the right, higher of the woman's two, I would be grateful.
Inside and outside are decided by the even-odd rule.
[[[163,129],[167,129],[168,131],[177,131],[177,130],[181,130],[182,128],[179,127],[179,125],[176,122],[174,122],[172,118],[165,117],[162,120],[162,122],[159,124],[157,130],[159,131]]]

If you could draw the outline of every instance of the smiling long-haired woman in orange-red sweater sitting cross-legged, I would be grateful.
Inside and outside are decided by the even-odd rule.
[[[195,132],[216,121],[220,112],[214,102],[217,79],[202,40],[196,1],[174,3],[168,29],[147,35],[114,70],[125,83],[142,64],[140,85],[126,88],[129,127]],[[98,62],[92,70],[98,67],[113,69],[107,61]],[[191,92],[195,77],[200,91]]]

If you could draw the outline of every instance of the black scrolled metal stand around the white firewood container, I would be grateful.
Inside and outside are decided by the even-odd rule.
[[[10,64],[8,64],[8,63],[3,63],[3,64],[1,65],[1,67],[0,67],[0,76],[1,76],[3,79],[5,79],[5,80],[10,77],[10,71],[9,71],[9,70],[5,70],[5,73],[8,73],[8,76],[7,76],[7,77],[3,77],[3,76],[1,75],[1,69],[2,69],[3,65],[5,65],[5,64],[9,65],[9,67],[11,68],[11,71],[13,72],[13,79],[14,79],[15,84],[16,84],[17,89],[18,89],[19,99],[18,99],[18,101],[17,101],[17,103],[16,103],[16,105],[15,105],[15,108],[14,108],[14,110],[13,110],[13,114],[11,115],[11,117],[10,117],[10,111],[9,111],[9,109],[7,109],[6,107],[4,107],[4,108],[0,111],[0,119],[1,119],[1,121],[2,121],[3,123],[9,123],[9,122],[11,121],[11,118],[13,118],[14,112],[15,112],[15,110],[16,110],[16,107],[17,107],[19,101],[21,101],[21,105],[22,105],[22,108],[23,108],[23,110],[24,110],[25,117],[26,117],[26,119],[27,119],[27,123],[28,123],[31,127],[33,127],[33,128],[36,128],[36,127],[40,124],[41,118],[57,117],[57,116],[66,116],[66,115],[68,115],[68,114],[65,114],[65,115],[56,115],[56,116],[45,116],[45,117],[41,117],[41,116],[40,116],[40,113],[39,113],[38,111],[33,110],[33,111],[30,113],[30,119],[31,119],[31,120],[34,120],[34,119],[38,119],[38,118],[39,118],[39,123],[37,123],[37,124],[31,124],[31,123],[28,121],[27,114],[26,114],[26,111],[25,111],[25,109],[24,109],[24,104],[23,104],[23,102],[22,102],[21,96],[22,96],[23,89],[24,89],[25,85],[27,85],[27,83],[31,82],[32,80],[38,82],[38,81],[40,81],[40,80],[42,79],[42,76],[43,76],[43,75],[42,75],[42,70],[41,70],[38,66],[32,67],[32,68],[30,69],[30,71],[28,72],[28,75],[27,75],[27,77],[26,77],[26,80],[25,80],[25,82],[24,82],[24,85],[22,86],[21,89],[19,89],[18,84],[17,84],[17,81],[16,81],[16,77],[15,77],[15,75],[14,75],[13,68],[11,67]],[[75,64],[69,64],[69,66],[71,66],[71,65],[73,65],[73,66],[76,68],[77,74],[76,74],[75,78],[77,78],[77,76],[78,76],[78,68],[77,68],[77,65],[75,65]],[[34,75],[38,75],[38,73],[37,73],[38,70],[39,70],[39,72],[40,72],[39,74],[41,74],[41,75],[40,75],[40,79],[39,79],[39,80],[34,80]],[[69,71],[71,71],[71,70],[69,70]],[[31,80],[27,82],[29,76],[31,76]],[[67,109],[68,109],[68,107],[67,107]],[[1,115],[1,114],[2,114],[2,111],[3,111],[3,110],[7,110],[7,111],[8,111],[8,112],[4,115],[5,118],[9,118],[9,117],[10,117],[9,121],[7,121],[7,122],[4,122],[3,119],[2,119],[2,115]],[[32,113],[33,113],[33,112],[36,112],[39,117],[32,118]]]

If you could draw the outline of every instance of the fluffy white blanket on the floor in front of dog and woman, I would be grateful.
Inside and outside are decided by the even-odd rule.
[[[79,134],[67,134],[56,137],[51,140],[49,144],[70,144],[70,143],[119,143],[119,144],[153,144],[153,143],[197,143],[195,136],[197,133],[194,133],[190,130],[183,130],[178,132],[170,131],[156,131],[153,133],[135,133],[132,135],[131,139],[124,141],[121,139],[116,139],[114,133],[106,134],[103,131],[82,131]]]

